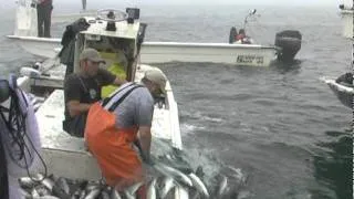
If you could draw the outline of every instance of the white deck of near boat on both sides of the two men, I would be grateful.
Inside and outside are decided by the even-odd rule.
[[[137,70],[136,80],[143,76],[147,67],[142,65]],[[156,105],[153,116],[152,154],[156,156],[168,153],[171,147],[181,149],[177,104],[169,83],[166,88],[170,101],[163,107]],[[97,180],[102,178],[95,159],[86,150],[84,139],[72,137],[62,129],[63,90],[54,90],[35,115],[41,136],[42,155],[49,174],[75,179]]]

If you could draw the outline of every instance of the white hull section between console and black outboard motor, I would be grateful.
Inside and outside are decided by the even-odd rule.
[[[144,63],[177,61],[269,66],[275,55],[275,46],[257,44],[145,42],[140,60]]]

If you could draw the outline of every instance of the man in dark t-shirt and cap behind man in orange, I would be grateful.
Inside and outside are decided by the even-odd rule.
[[[65,119],[63,129],[72,136],[83,137],[86,116],[91,105],[101,100],[101,88],[105,85],[122,85],[111,72],[100,69],[105,63],[94,49],[85,49],[80,55],[80,72],[64,80]]]

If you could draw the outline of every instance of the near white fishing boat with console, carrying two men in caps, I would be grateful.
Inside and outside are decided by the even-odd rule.
[[[116,18],[107,18],[105,14],[107,12],[114,13]],[[128,81],[139,82],[145,71],[153,66],[138,64],[145,25],[139,23],[138,15],[134,14],[137,12],[138,9],[131,9],[129,13],[133,13],[131,15],[117,10],[101,10],[100,18],[92,18],[90,28],[75,36],[75,71],[79,69],[79,54],[85,48],[94,48],[100,51],[107,65],[117,62],[116,53],[112,52],[122,52],[124,49],[128,60],[124,67],[124,75]],[[118,17],[119,14],[121,17]],[[110,53],[104,52],[107,49],[110,49]],[[62,84],[65,65],[55,64],[56,61],[49,60],[42,63],[38,71],[31,71],[17,81],[23,91],[32,93],[37,98],[43,101],[34,107],[38,109],[35,116],[39,123],[42,157],[46,164],[48,172],[70,179],[100,180],[102,178],[100,168],[96,160],[86,150],[84,139],[72,137],[62,129],[62,121],[64,119]],[[25,72],[29,71],[22,69],[22,73]],[[169,82],[166,84],[165,98],[155,106],[152,134],[152,154],[154,156],[165,153],[164,150],[183,149],[178,108]],[[177,186],[174,198],[188,198],[188,192]]]

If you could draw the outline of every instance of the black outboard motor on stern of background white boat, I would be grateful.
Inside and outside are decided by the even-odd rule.
[[[281,48],[278,60],[289,62],[301,49],[302,35],[296,30],[285,30],[275,34],[275,45]]]

